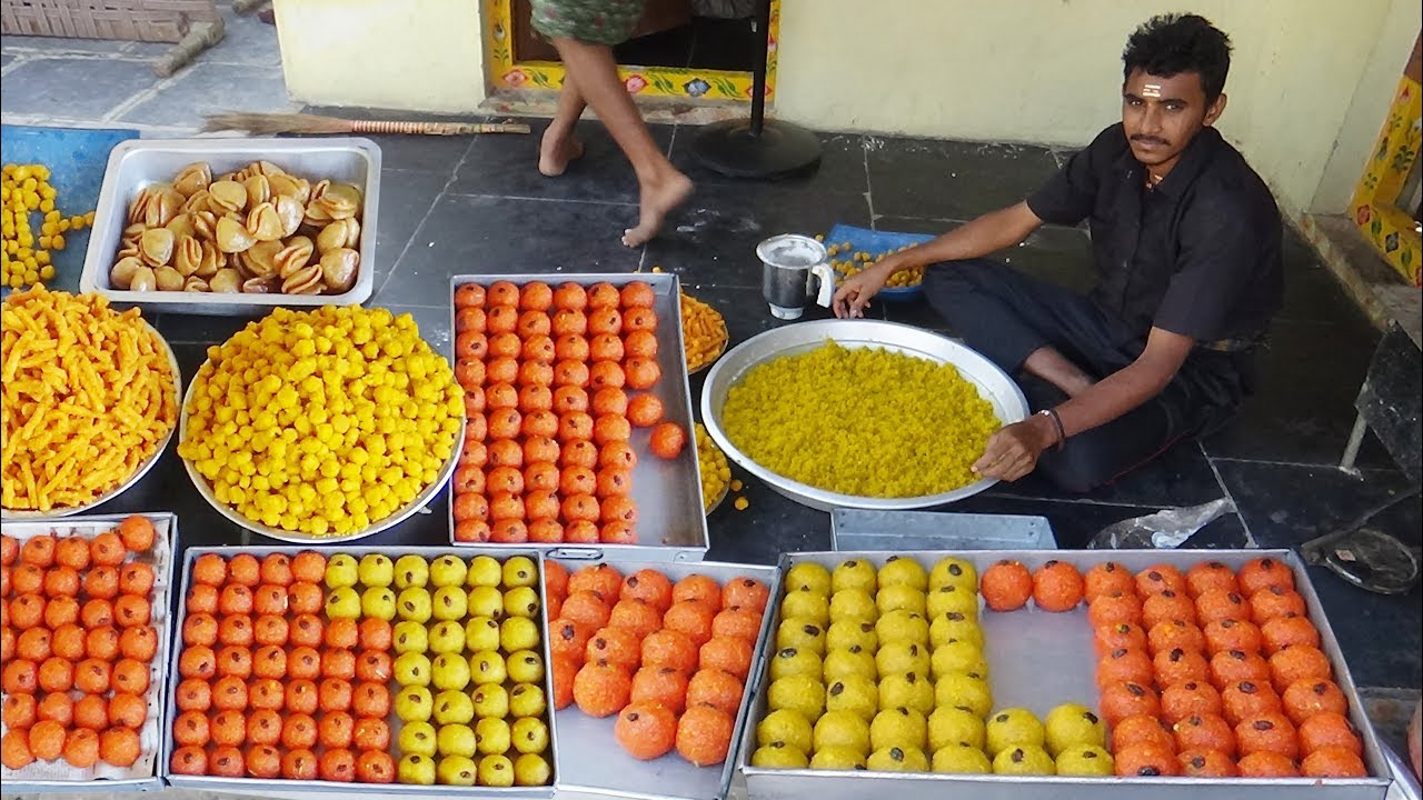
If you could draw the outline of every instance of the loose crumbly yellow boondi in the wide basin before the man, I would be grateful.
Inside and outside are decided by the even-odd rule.
[[[731,443],[773,473],[858,497],[968,485],[1000,426],[955,367],[834,342],[750,370],[721,417]]]

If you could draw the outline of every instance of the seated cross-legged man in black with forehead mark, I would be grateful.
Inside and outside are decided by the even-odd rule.
[[[835,315],[862,316],[894,273],[932,265],[929,303],[1023,387],[1037,410],[973,465],[1036,468],[1087,491],[1221,426],[1251,391],[1284,292],[1281,219],[1259,175],[1211,125],[1225,110],[1229,38],[1165,14],[1127,41],[1121,122],[1037,194],[845,282]],[[1089,221],[1090,298],[983,256],[1044,222]]]

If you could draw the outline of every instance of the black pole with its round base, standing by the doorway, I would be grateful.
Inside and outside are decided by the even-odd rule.
[[[756,9],[757,30],[770,37],[771,3]],[[811,131],[766,118],[766,47],[756,57],[751,83],[751,118],[727,120],[702,128],[692,142],[697,159],[734,178],[778,178],[820,164],[820,140]]]

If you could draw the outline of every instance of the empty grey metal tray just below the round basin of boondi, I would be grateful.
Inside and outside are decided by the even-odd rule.
[[[830,512],[830,547],[851,549],[1057,549],[1046,517],[942,511]]]

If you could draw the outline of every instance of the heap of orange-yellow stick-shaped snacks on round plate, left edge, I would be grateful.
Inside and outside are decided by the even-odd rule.
[[[168,350],[105,298],[48,292],[0,309],[0,505],[53,511],[118,487],[178,421]]]

